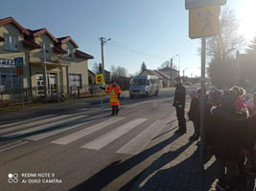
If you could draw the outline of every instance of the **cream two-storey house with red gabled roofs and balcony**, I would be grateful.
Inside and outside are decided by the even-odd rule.
[[[56,38],[47,29],[30,30],[12,17],[0,19],[0,92],[29,90],[30,96],[88,91],[87,62],[71,36]]]

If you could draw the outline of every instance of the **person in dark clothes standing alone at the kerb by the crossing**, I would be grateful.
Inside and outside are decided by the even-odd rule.
[[[186,119],[185,119],[185,102],[186,102],[186,89],[182,85],[182,79],[180,76],[175,78],[175,99],[173,106],[176,108],[176,117],[178,120],[178,130],[176,133],[185,134],[187,131]]]

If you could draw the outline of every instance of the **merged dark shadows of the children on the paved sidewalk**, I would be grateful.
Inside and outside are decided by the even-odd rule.
[[[149,177],[154,174],[150,180],[147,180],[146,184],[140,187],[140,183],[144,180],[141,179],[132,190],[150,190],[151,186],[157,186],[157,190],[170,190],[170,191],[206,191],[210,190],[213,182],[216,180],[216,162],[213,162],[211,166],[204,172],[205,183],[204,189],[202,188],[202,173],[200,171],[199,163],[199,149],[197,149],[190,157],[185,158],[174,166],[166,169],[162,169],[166,164],[174,161],[180,154],[182,154],[193,142],[188,142],[185,145],[178,148],[176,151],[170,151],[162,155],[159,159],[156,159],[151,164],[150,171],[147,172],[145,177]],[[182,156],[181,156],[182,158]],[[205,161],[206,162],[206,161]],[[169,164],[170,165],[170,164]]]

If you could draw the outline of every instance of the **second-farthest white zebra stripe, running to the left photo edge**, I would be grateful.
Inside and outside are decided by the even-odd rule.
[[[51,123],[48,123],[48,124],[45,124],[45,125],[40,125],[38,127],[31,128],[31,129],[26,129],[26,130],[23,130],[23,131],[14,132],[12,134],[7,134],[5,136],[2,136],[2,138],[12,137],[12,136],[16,137],[16,136],[21,136],[21,135],[24,135],[24,134],[29,134],[29,133],[32,133],[32,132],[47,129],[47,128],[50,128],[50,127],[53,127],[53,126],[56,126],[56,125],[59,125],[59,124],[63,124],[65,122],[70,122],[72,120],[80,119],[80,118],[87,117],[87,116],[72,117],[72,115],[64,115],[62,117],[65,117],[66,119],[58,120],[56,122],[51,122]]]

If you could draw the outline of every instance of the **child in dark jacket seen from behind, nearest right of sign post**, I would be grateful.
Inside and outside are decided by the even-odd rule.
[[[243,145],[244,126],[247,113],[238,110],[235,91],[226,91],[221,106],[212,110],[210,123],[213,154],[219,167],[217,187],[221,190],[234,190],[235,179],[239,175],[240,148]]]

